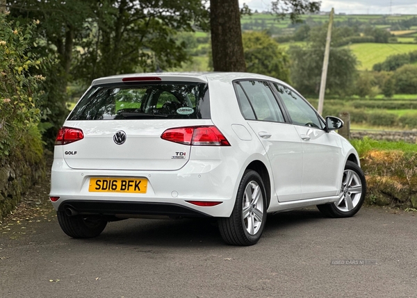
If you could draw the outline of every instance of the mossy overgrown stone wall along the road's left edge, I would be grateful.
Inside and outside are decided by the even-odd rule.
[[[44,160],[37,162],[0,159],[0,221],[35,183],[44,179]]]

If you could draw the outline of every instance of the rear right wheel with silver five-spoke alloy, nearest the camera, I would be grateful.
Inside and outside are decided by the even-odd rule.
[[[230,217],[223,217],[218,221],[224,242],[240,246],[256,244],[266,222],[266,201],[261,176],[251,169],[246,170]]]

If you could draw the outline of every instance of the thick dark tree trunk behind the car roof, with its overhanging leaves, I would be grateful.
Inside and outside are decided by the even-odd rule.
[[[245,57],[240,31],[238,0],[210,1],[211,47],[215,72],[245,72]],[[320,2],[309,0],[272,1],[272,12],[278,17],[289,15],[293,22],[300,15],[316,12]],[[244,8],[248,12],[247,6]]]

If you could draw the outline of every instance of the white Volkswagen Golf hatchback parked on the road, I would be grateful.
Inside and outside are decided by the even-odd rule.
[[[129,217],[217,217],[225,242],[254,245],[267,213],[361,208],[366,181],[342,125],[259,74],[99,78],[58,133],[50,199],[73,238]]]

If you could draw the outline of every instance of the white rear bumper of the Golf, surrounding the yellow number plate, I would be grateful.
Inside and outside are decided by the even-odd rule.
[[[50,197],[55,210],[71,204],[78,212],[124,215],[173,215],[187,217],[229,217],[234,208],[238,163],[189,160],[176,171],[132,171],[72,169],[55,156],[51,171]],[[132,177],[147,179],[145,194],[89,192],[92,177]],[[217,206],[196,206],[188,201],[221,201]],[[114,208],[114,210],[113,210]]]

